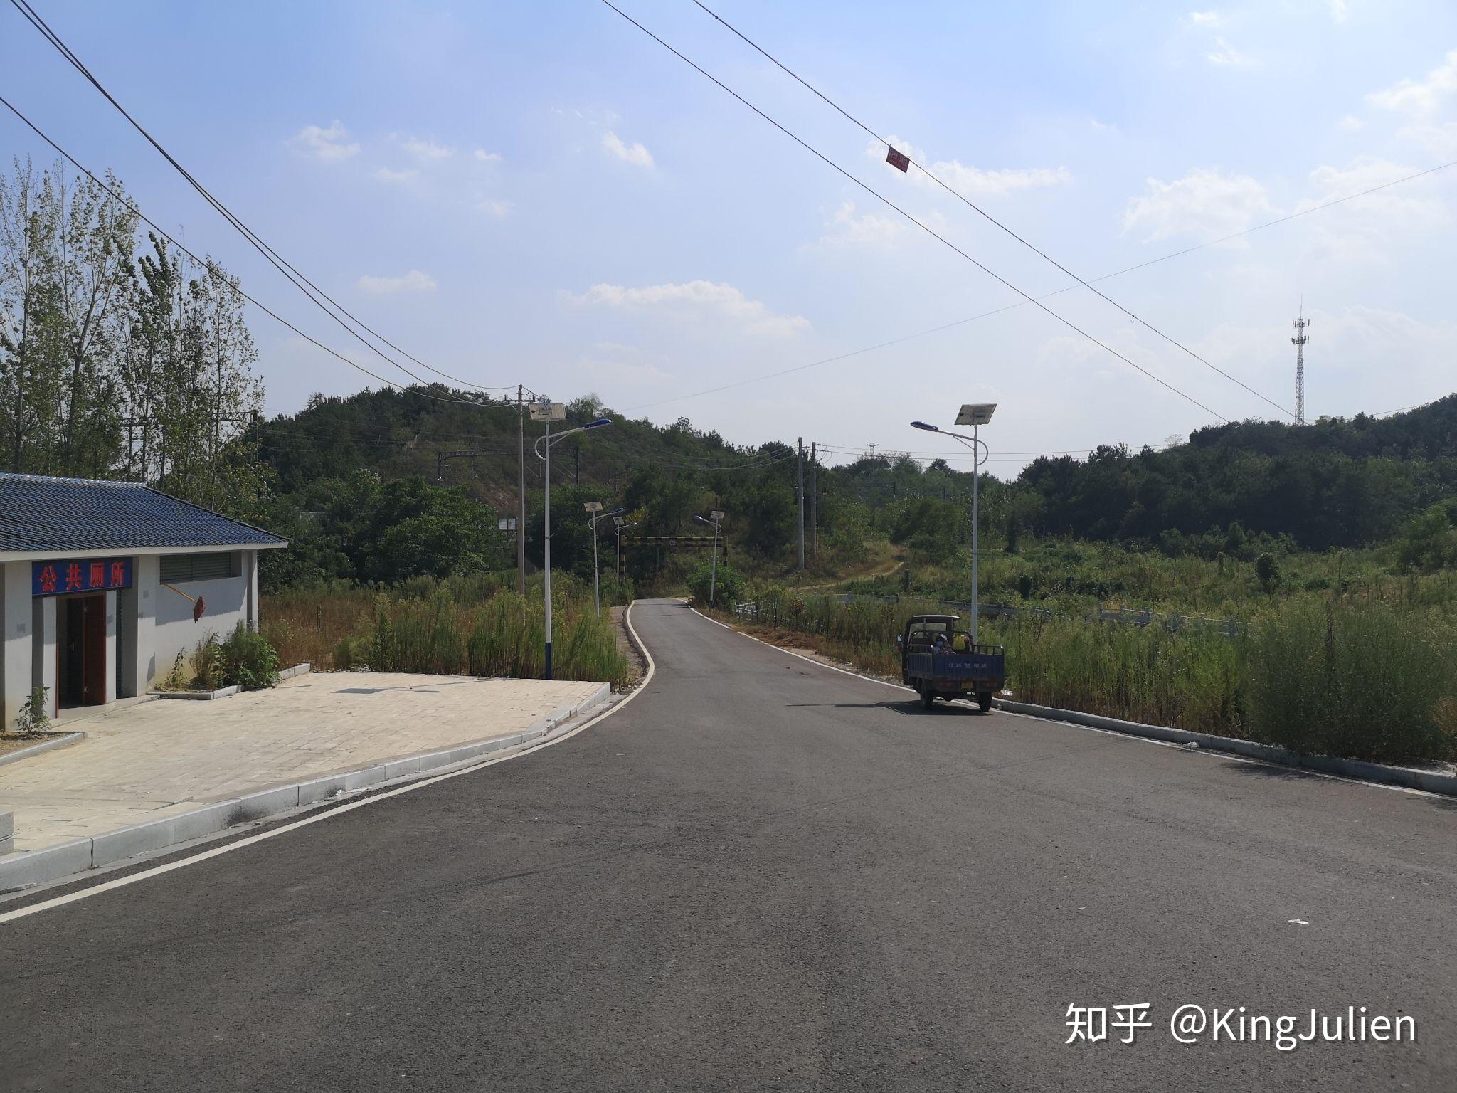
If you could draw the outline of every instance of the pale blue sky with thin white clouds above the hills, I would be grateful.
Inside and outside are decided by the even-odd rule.
[[[689,0],[621,6],[1018,287],[1068,283],[884,166]],[[710,6],[1087,278],[1457,159],[1450,4]],[[1001,404],[1000,453],[1158,443],[1212,420],[1030,306],[678,398],[1017,297],[597,0],[36,7],[259,235],[457,376],[592,391],[739,443],[932,450],[906,421],[949,424],[966,401]],[[0,89],[55,140],[261,300],[388,369],[9,7],[0,41]],[[13,118],[0,133],[50,159]],[[1285,407],[1304,296],[1310,415],[1418,404],[1454,386],[1454,192],[1457,168],[1100,287]],[[1275,412],[1085,290],[1048,303],[1224,417]],[[370,382],[262,315],[252,326],[271,411]]]

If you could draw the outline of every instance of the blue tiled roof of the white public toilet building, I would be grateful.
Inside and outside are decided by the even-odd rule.
[[[0,551],[281,546],[284,539],[140,482],[0,474]]]

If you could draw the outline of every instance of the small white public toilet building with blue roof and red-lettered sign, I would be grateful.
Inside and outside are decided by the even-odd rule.
[[[138,482],[0,474],[6,727],[146,694],[210,632],[258,625],[258,551],[284,539]]]

